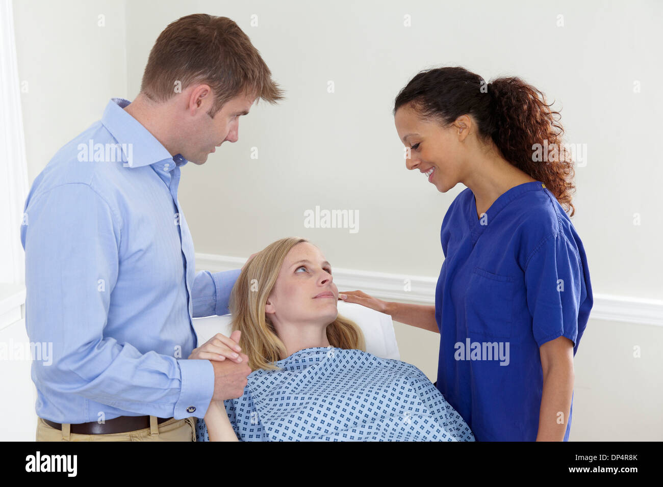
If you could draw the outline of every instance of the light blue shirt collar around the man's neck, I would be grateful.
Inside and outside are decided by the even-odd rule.
[[[184,166],[188,160],[181,154],[171,156],[154,135],[127,113],[124,107],[129,103],[131,101],[124,98],[111,98],[101,116],[103,126],[121,145],[127,167],[153,165],[157,169],[170,171]]]

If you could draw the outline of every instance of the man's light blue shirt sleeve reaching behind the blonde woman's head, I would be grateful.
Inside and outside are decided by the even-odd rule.
[[[210,272],[202,270],[194,278],[191,290],[194,303],[194,318],[227,315],[230,292],[239,278],[241,269]]]

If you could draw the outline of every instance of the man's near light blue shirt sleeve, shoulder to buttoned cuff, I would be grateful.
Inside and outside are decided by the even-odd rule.
[[[52,343],[51,363],[32,366],[36,384],[143,415],[203,417],[214,387],[209,360],[141,353],[104,334],[119,270],[119,215],[80,183],[39,195],[26,214],[26,328],[30,341]]]

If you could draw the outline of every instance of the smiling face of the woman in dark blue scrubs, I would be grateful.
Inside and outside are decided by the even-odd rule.
[[[421,119],[409,104],[396,110],[394,123],[398,138],[410,148],[410,158],[405,160],[408,169],[419,170],[442,193],[461,182],[465,167],[462,123],[443,129],[439,123]]]

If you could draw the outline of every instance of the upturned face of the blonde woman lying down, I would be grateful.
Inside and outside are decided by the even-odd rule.
[[[286,255],[265,313],[277,333],[284,326],[326,327],[336,319],[337,300],[329,262],[314,244],[302,242]]]

